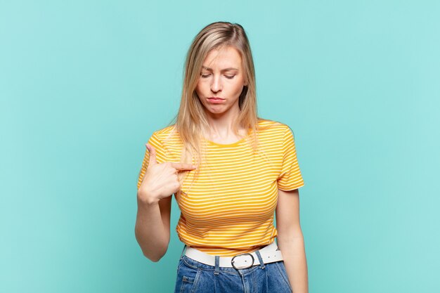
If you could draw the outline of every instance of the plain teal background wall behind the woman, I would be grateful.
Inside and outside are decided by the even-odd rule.
[[[172,292],[134,237],[190,41],[247,30],[292,127],[310,292],[438,292],[439,1],[0,1],[0,292]]]

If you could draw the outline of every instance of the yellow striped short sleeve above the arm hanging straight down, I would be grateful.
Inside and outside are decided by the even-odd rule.
[[[278,176],[280,190],[294,190],[304,186],[304,180],[299,170],[295,139],[292,130],[287,126],[283,138],[283,165]]]

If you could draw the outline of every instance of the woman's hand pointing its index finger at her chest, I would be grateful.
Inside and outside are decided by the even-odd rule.
[[[138,200],[148,204],[155,204],[164,197],[169,197],[177,193],[181,188],[179,171],[194,170],[192,164],[163,162],[158,164],[156,161],[156,150],[150,144],[145,144],[150,152],[147,171],[141,186],[138,189]]]

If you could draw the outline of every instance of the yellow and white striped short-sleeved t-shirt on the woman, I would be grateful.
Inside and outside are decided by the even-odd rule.
[[[148,141],[157,152],[158,163],[180,162],[183,144],[173,129],[174,125],[155,131]],[[289,126],[264,119],[258,122],[257,153],[247,142],[249,136],[248,132],[230,144],[202,141],[205,164],[194,181],[195,170],[186,171],[181,192],[176,194],[181,209],[176,232],[181,242],[219,256],[254,252],[273,242],[278,189],[304,185],[295,141]],[[138,188],[148,160],[146,150]]]

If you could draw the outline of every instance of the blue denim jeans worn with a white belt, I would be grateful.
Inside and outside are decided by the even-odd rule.
[[[283,261],[235,269],[209,266],[182,255],[174,293],[292,293]]]

